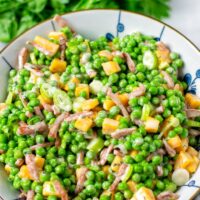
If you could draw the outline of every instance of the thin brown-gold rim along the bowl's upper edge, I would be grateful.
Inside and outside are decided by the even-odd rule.
[[[88,12],[88,11],[122,11],[122,12],[125,12],[125,13],[129,13],[129,14],[136,14],[136,15],[140,15],[144,18],[148,18],[148,19],[151,19],[152,21],[156,21],[156,22],[159,22],[161,24],[163,24],[164,26],[167,26],[169,29],[175,31],[177,34],[181,35],[185,40],[187,40],[190,45],[198,52],[200,53],[200,48],[197,47],[197,45],[194,44],[194,42],[192,42],[187,36],[185,36],[181,31],[178,31],[176,28],[174,28],[173,26],[159,20],[159,19],[156,19],[154,17],[151,17],[149,15],[145,15],[145,14],[142,14],[142,13],[139,13],[139,12],[135,12],[135,11],[128,11],[128,10],[123,10],[123,9],[115,9],[115,8],[94,8],[94,9],[82,9],[82,10],[78,10],[78,11],[71,11],[71,12],[67,12],[67,13],[63,13],[61,14],[60,16],[64,16],[64,15],[70,15],[70,14],[73,14],[73,13],[82,13],[82,12]],[[9,46],[11,46],[18,38],[22,37],[25,33],[27,33],[28,31],[30,31],[31,29],[37,27],[37,26],[40,26],[41,24],[43,23],[46,23],[48,21],[52,20],[52,17],[44,20],[44,21],[41,21],[39,22],[38,24],[32,26],[31,28],[27,29],[26,31],[22,32],[21,34],[19,34],[18,36],[16,36],[14,39],[12,39],[5,47],[3,47],[1,50],[0,50],[0,54],[3,53]]]

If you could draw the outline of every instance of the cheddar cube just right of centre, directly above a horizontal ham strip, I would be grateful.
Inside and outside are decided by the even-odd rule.
[[[112,133],[118,128],[118,126],[119,126],[119,121],[110,118],[105,118],[102,124],[103,133],[104,134]]]

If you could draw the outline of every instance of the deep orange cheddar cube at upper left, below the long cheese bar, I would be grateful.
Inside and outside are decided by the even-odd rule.
[[[67,63],[64,60],[60,60],[58,58],[54,58],[51,62],[51,65],[49,67],[49,70],[52,73],[57,73],[57,72],[64,72],[67,67]]]

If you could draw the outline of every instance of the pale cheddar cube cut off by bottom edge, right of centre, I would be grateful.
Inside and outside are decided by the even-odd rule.
[[[145,199],[145,200],[156,200],[152,190],[146,188],[146,187],[141,187],[135,194],[134,194],[134,198],[136,200],[141,200],[141,199]]]

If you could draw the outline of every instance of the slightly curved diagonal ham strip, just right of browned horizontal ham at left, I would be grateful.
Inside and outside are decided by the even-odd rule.
[[[57,138],[57,133],[58,133],[59,127],[68,115],[69,115],[69,113],[64,112],[56,118],[54,124],[50,127],[50,131],[49,131],[50,137]]]

